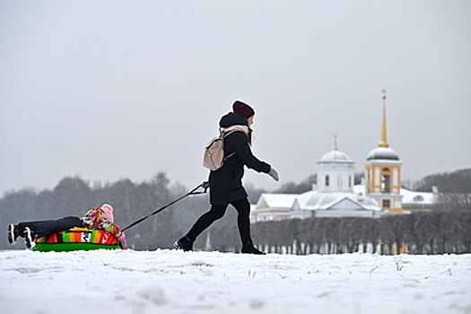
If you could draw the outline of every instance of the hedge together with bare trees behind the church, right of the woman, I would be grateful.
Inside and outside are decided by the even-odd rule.
[[[355,175],[355,184],[361,174]],[[279,191],[306,191],[315,181],[310,176],[300,184],[286,184]],[[381,254],[471,253],[471,169],[432,174],[406,188],[436,192],[432,213],[371,218],[309,218],[252,225],[257,245],[267,251],[296,254],[345,253],[370,249]],[[207,241],[206,241],[207,242]],[[201,248],[204,240],[197,243]],[[237,250],[237,228],[214,227],[212,249]]]

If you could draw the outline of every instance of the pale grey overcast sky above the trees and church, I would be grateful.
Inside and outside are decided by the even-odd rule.
[[[470,1],[2,1],[0,196],[66,176],[193,188],[233,100],[280,182],[334,147],[364,169],[388,143],[403,179],[471,167]]]

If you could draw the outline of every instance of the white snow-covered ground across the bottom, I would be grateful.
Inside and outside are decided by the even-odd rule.
[[[471,255],[0,251],[0,312],[471,313]]]

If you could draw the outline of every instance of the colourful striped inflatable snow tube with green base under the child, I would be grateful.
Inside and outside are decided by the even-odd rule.
[[[35,240],[31,248],[39,252],[68,252],[92,249],[118,249],[118,240],[107,231],[72,228]]]

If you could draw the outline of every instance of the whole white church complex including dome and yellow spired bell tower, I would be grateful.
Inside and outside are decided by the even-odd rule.
[[[398,154],[389,147],[386,127],[386,96],[378,147],[366,158],[365,182],[354,185],[354,161],[335,147],[317,162],[317,185],[303,194],[264,193],[252,206],[251,222],[308,217],[370,217],[430,211],[433,193],[401,188]]]

